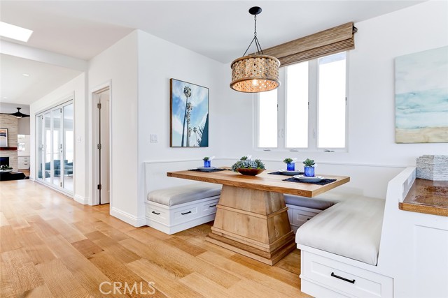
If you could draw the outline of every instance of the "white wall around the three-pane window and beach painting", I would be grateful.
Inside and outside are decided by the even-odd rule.
[[[222,156],[252,154],[274,170],[284,167],[279,161],[286,157],[313,158],[318,172],[351,176],[346,188],[384,198],[388,179],[402,167],[415,165],[423,154],[448,154],[447,143],[395,144],[394,110],[395,57],[448,45],[447,6],[447,1],[429,1],[356,23],[356,49],[349,53],[349,152],[253,150],[253,100],[228,88],[219,106],[225,115],[218,144]]]

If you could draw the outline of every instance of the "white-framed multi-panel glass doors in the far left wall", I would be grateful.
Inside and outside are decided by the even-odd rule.
[[[36,179],[73,193],[73,103],[36,115]]]

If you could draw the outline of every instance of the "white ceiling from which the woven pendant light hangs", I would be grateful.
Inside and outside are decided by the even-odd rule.
[[[21,44],[78,59],[89,60],[132,30],[141,29],[216,61],[229,63],[244,53],[253,38],[253,16],[248,14],[251,6],[260,6],[263,10],[258,16],[257,31],[262,47],[267,48],[419,2],[422,1],[1,0],[0,18],[3,22],[34,30],[29,42]],[[358,34],[362,34],[362,29]],[[1,64],[4,80],[3,75],[10,69],[3,71],[3,56]],[[60,71],[64,73],[65,70]],[[2,94],[4,86],[2,83]],[[11,92],[20,94],[20,91]],[[32,100],[25,95],[17,98]]]

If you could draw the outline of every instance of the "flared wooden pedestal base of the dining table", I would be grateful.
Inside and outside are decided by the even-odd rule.
[[[283,193],[223,185],[207,241],[274,265],[295,249]]]

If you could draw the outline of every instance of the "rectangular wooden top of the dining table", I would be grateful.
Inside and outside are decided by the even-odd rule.
[[[330,189],[342,184],[346,184],[350,181],[350,177],[320,174],[321,176],[328,179],[336,179],[336,181],[326,185],[297,183],[291,181],[282,181],[283,179],[289,178],[290,176],[268,174],[269,172],[274,171],[265,170],[265,172],[262,172],[257,176],[245,176],[237,172],[232,172],[230,170],[221,172],[197,172],[186,170],[178,172],[167,172],[167,176],[215,184],[223,184],[228,186],[258,189],[261,191],[272,191],[274,193],[301,195],[308,198],[313,198],[316,195],[325,193],[325,191],[330,191]]]

